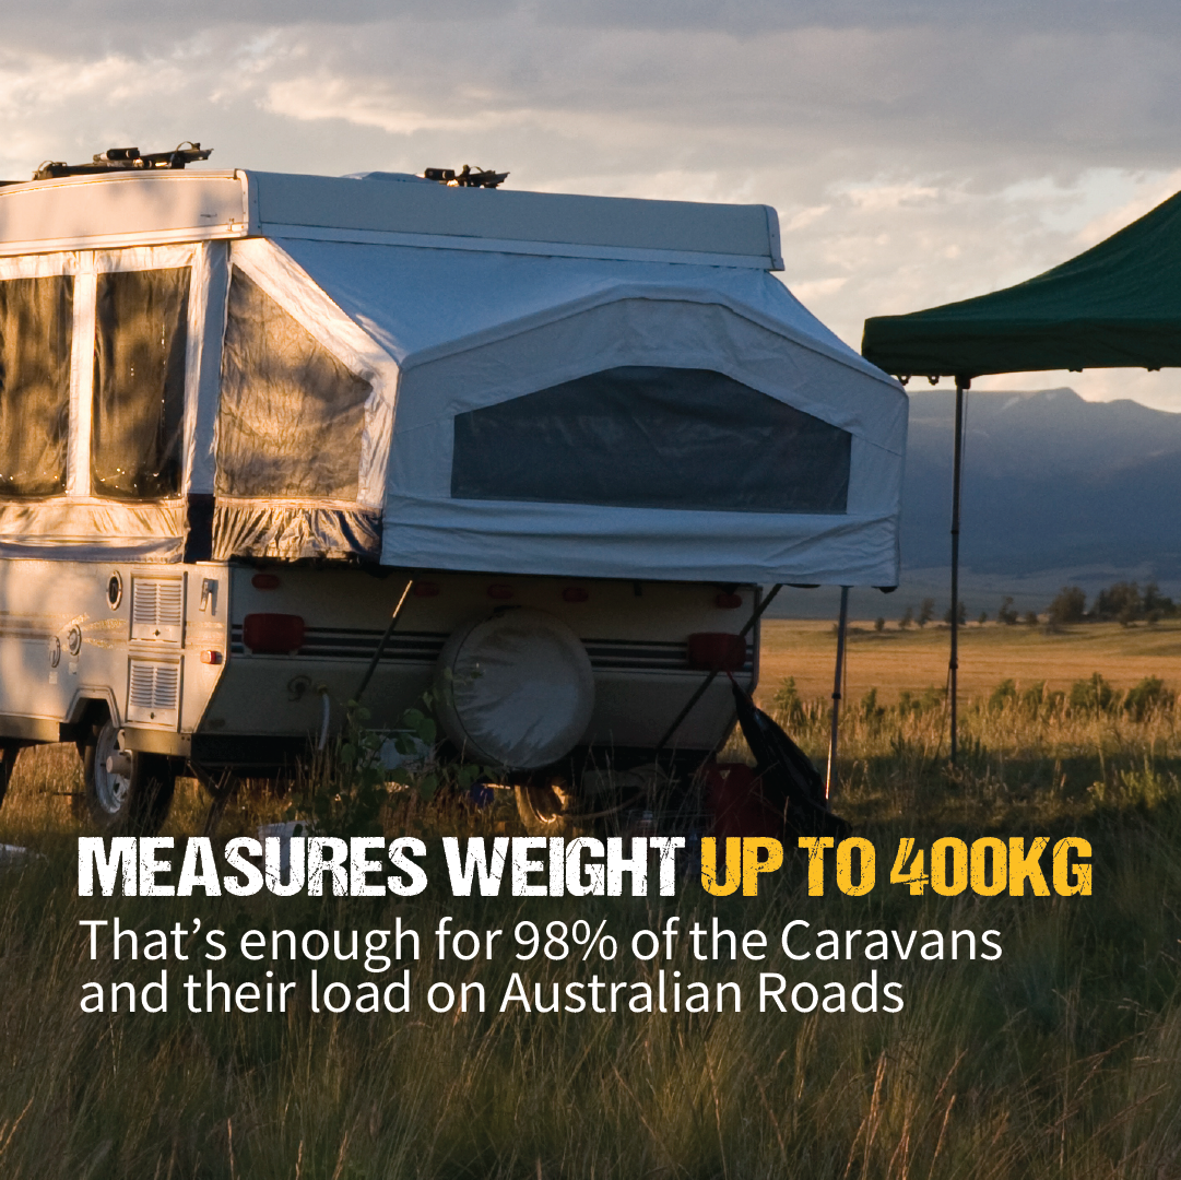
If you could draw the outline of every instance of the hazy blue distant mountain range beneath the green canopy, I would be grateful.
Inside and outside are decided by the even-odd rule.
[[[980,575],[990,586],[1038,574],[1059,584],[1181,579],[1181,415],[1084,402],[1069,389],[971,391],[966,406],[960,558],[970,586]],[[905,571],[948,565],[953,425],[952,393],[911,393]]]

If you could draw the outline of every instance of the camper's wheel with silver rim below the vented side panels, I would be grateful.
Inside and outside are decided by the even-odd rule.
[[[120,750],[110,721],[96,725],[83,751],[86,809],[109,835],[151,835],[164,824],[176,770],[158,754]]]

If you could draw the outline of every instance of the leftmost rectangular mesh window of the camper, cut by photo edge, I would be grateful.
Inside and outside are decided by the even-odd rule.
[[[65,491],[73,279],[0,282],[0,496]]]

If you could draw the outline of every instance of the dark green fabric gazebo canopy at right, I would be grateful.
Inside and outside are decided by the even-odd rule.
[[[1181,366],[1181,193],[1016,287],[866,320],[861,353],[888,373],[965,379]]]

